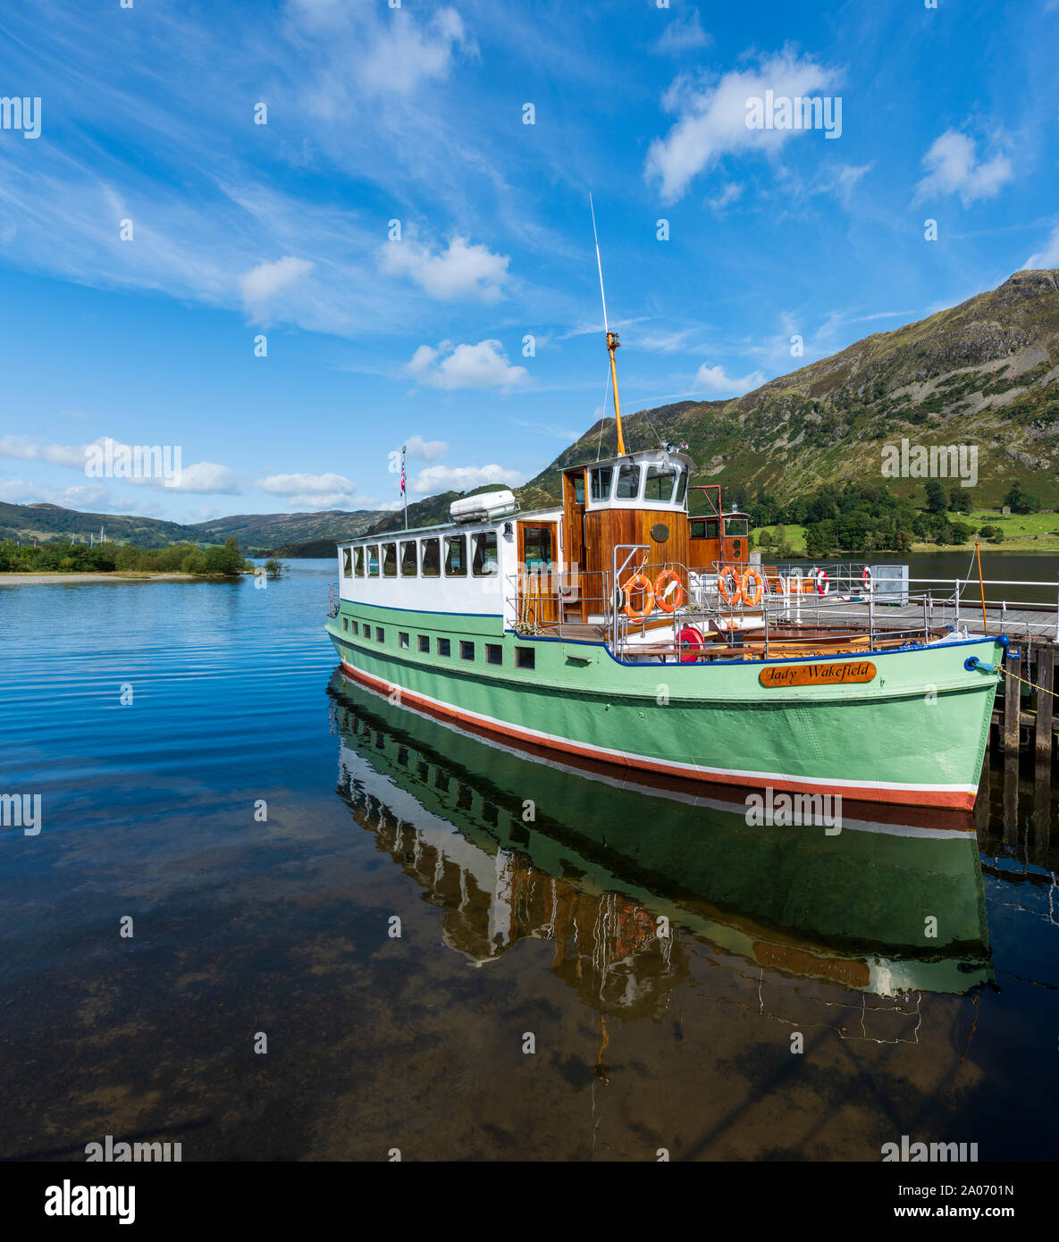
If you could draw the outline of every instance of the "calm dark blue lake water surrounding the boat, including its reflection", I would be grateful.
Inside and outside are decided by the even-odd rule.
[[[1059,1156],[1050,791],[749,830],[344,688],[331,578],[0,589],[0,1155]]]

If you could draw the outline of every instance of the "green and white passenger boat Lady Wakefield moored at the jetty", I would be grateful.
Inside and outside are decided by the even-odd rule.
[[[487,492],[447,523],[338,544],[325,626],[345,676],[467,729],[761,791],[770,809],[971,809],[1007,638],[934,625],[926,602],[922,626],[883,623],[867,566],[836,591],[824,571],[762,565],[749,515],[693,484],[687,446],[626,451],[606,339],[617,453],[562,467],[555,505]]]

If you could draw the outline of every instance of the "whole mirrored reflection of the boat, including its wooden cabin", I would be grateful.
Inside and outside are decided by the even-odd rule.
[[[525,938],[550,940],[551,969],[587,1005],[659,1017],[688,975],[692,938],[745,979],[778,982],[792,1021],[806,995],[849,1006],[862,994],[840,1030],[886,1042],[916,1038],[919,994],[992,980],[967,814],[850,802],[837,835],[752,827],[729,787],[713,796],[575,770],[391,704],[340,672],[330,692],[340,794],[474,965]],[[770,997],[783,1018],[785,1001]]]

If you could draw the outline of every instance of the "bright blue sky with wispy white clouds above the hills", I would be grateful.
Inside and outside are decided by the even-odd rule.
[[[531,477],[605,410],[590,190],[626,411],[1059,267],[1059,0],[659,2],[6,6],[0,499],[382,508],[402,442],[412,499]],[[770,89],[840,133],[747,128]],[[87,476],[103,437],[179,487]]]

